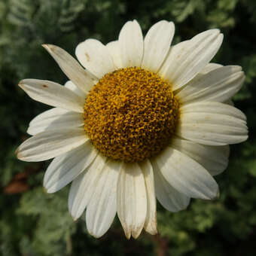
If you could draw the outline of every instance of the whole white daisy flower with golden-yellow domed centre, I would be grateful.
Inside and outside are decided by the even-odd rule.
[[[86,209],[88,232],[102,236],[117,216],[124,233],[157,233],[156,198],[171,212],[190,198],[218,197],[213,178],[227,167],[229,144],[247,139],[245,115],[230,98],[241,88],[239,66],[209,63],[223,35],[210,29],[170,47],[172,22],[161,20],[143,38],[136,20],[117,41],[78,44],[75,60],[44,44],[70,81],[25,79],[19,86],[54,108],[29,123],[17,149],[24,161],[53,158],[44,187],[72,182],[69,212]]]

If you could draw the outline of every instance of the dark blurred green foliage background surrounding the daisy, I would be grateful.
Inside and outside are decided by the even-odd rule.
[[[94,239],[83,218],[74,222],[69,215],[69,186],[44,192],[48,163],[25,163],[14,155],[29,138],[29,121],[49,108],[17,84],[24,78],[64,84],[67,78],[41,44],[56,44],[75,56],[79,42],[97,38],[106,44],[132,19],[144,35],[158,20],[172,20],[174,44],[221,29],[224,43],[213,61],[245,71],[245,84],[233,101],[248,117],[249,139],[231,146],[230,165],[216,177],[218,200],[192,200],[175,214],[157,205],[157,236],[143,232],[128,241],[116,218],[105,236]],[[1,255],[256,254],[255,0],[0,0],[0,20]]]

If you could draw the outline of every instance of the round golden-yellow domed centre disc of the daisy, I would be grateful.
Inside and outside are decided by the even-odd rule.
[[[101,78],[87,96],[84,130],[105,156],[138,162],[168,145],[178,110],[168,81],[145,69],[118,69]]]

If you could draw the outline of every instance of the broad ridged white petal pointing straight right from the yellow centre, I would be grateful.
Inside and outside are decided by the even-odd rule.
[[[176,134],[205,145],[227,145],[248,138],[246,117],[239,109],[219,102],[197,102],[180,108]]]

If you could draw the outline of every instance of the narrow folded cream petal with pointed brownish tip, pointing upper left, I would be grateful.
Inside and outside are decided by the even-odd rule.
[[[97,79],[93,74],[84,70],[78,61],[74,59],[66,50],[53,44],[43,44],[43,47],[53,56],[59,64],[62,72],[84,93],[88,93]]]

